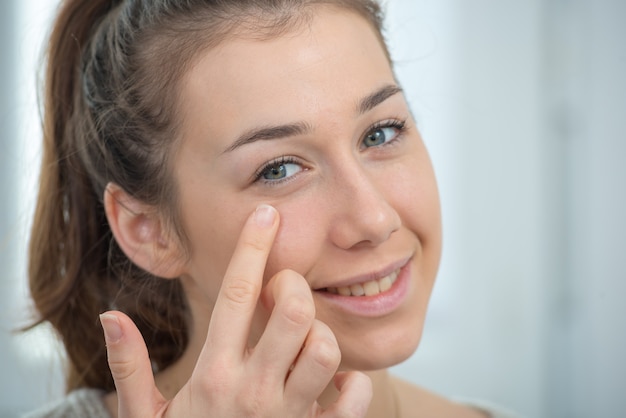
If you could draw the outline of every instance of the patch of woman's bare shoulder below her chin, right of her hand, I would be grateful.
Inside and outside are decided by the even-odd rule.
[[[392,376],[400,417],[488,418],[484,412],[453,402],[436,393]]]

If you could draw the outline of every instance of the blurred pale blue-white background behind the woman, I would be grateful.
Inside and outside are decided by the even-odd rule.
[[[0,417],[63,392],[29,318],[36,71],[55,1],[0,2]],[[527,417],[626,411],[626,2],[390,0],[397,73],[439,177],[445,244],[395,372]]]

